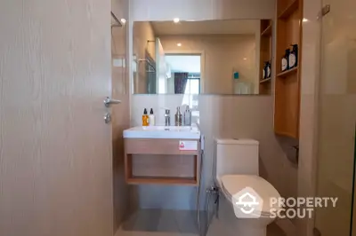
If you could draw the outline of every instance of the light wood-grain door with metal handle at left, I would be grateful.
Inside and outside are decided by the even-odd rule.
[[[113,234],[110,4],[0,1],[0,235]]]

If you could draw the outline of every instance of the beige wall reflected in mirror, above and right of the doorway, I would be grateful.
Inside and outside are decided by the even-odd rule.
[[[159,39],[166,53],[204,54],[201,93],[233,94],[233,71],[239,72],[239,82],[251,84],[252,92],[258,88],[255,35],[160,35]]]

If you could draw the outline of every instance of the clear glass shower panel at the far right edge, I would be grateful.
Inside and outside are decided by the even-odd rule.
[[[323,0],[317,194],[337,197],[316,209],[322,236],[352,233],[356,121],[356,1]],[[356,216],[353,216],[353,219]],[[356,228],[353,227],[353,231]]]

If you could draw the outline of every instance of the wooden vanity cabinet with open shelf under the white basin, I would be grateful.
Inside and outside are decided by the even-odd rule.
[[[198,185],[200,140],[197,150],[182,151],[180,140],[125,138],[125,180],[130,185]],[[187,140],[188,141],[188,140]]]

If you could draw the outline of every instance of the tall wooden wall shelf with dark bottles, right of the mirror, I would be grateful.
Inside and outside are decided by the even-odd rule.
[[[281,72],[275,79],[274,131],[299,138],[300,75],[302,59],[303,0],[277,0],[276,68],[291,44],[298,44],[298,67]]]

